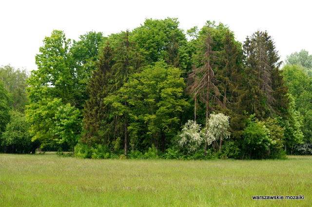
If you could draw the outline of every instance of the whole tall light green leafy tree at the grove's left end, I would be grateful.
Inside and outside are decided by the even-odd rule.
[[[72,145],[73,136],[76,138],[81,131],[71,128],[81,128],[81,117],[75,108],[81,106],[80,99],[83,97],[76,80],[78,71],[75,71],[72,62],[70,44],[71,40],[66,39],[62,31],[54,30],[50,37],[45,37],[36,55],[38,70],[33,70],[27,80],[30,104],[25,111],[26,120],[31,124],[33,140],[40,140],[41,146],[55,139],[59,142],[66,140]],[[69,121],[76,123],[64,121],[62,113],[68,116]]]

